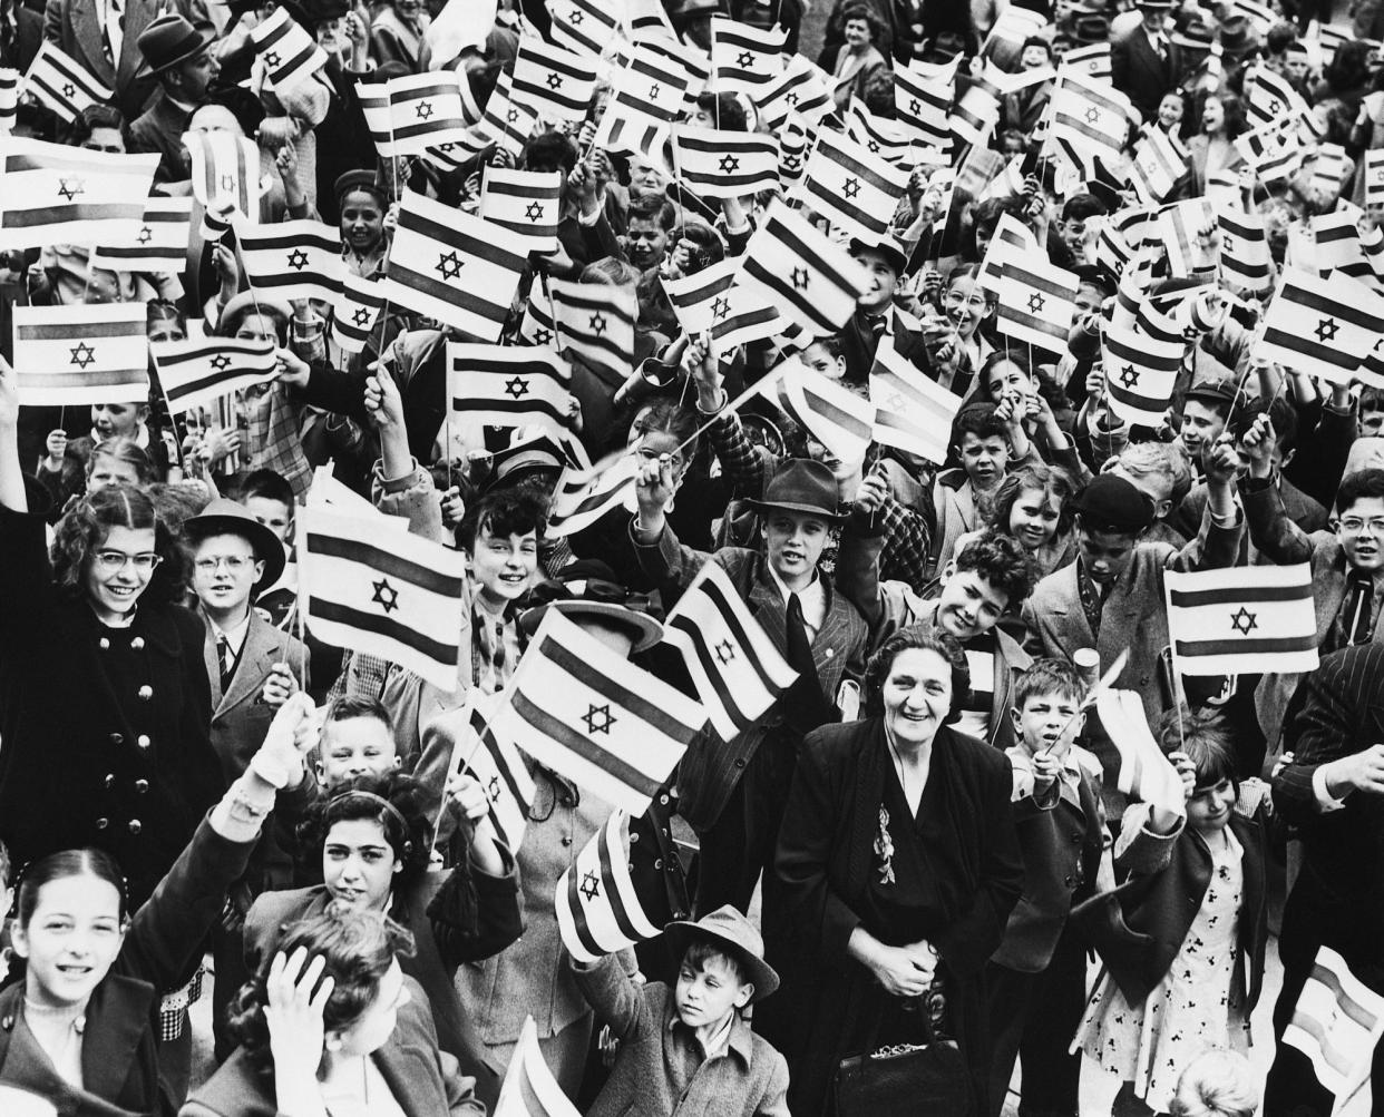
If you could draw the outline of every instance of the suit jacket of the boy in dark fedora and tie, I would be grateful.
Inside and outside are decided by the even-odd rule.
[[[745,547],[721,547],[714,554],[692,550],[678,542],[671,527],[663,528],[656,543],[632,546],[641,570],[659,588],[664,608],[673,608],[703,563],[718,563],[774,647],[781,654],[787,654],[783,597],[763,554]],[[822,589],[826,594],[826,618],[812,640],[812,664],[822,684],[822,697],[833,704],[843,679],[859,679],[865,673],[869,633],[855,606],[836,593],[830,583],[825,583]],[[783,711],[775,704],[757,726],[734,741],[722,741],[714,731],[704,730],[684,753],[678,769],[682,817],[698,829],[710,827],[720,817],[765,731],[782,722]]]

